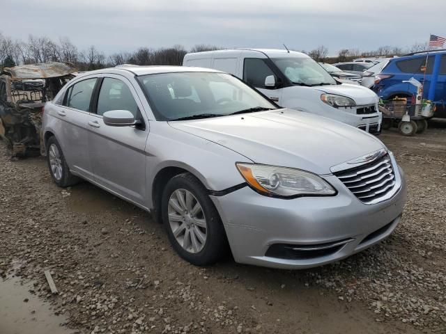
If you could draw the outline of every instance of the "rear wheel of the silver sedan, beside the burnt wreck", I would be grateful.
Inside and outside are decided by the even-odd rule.
[[[67,161],[63,156],[61,145],[57,142],[56,137],[49,137],[45,148],[47,150],[49,174],[54,183],[58,186],[66,187],[79,182],[79,177],[71,174]]]

